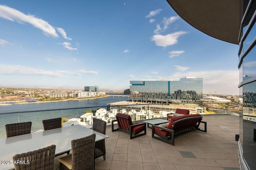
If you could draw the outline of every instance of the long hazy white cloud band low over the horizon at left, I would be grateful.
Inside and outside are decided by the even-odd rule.
[[[37,68],[30,68],[21,65],[6,65],[0,64],[0,74],[3,75],[22,75],[22,76],[50,76],[62,78],[68,75],[77,75],[81,76],[85,74],[98,74],[96,71],[68,71],[68,70],[42,70]]]

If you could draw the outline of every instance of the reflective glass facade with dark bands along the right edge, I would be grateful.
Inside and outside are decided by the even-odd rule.
[[[256,1],[244,0],[240,30],[239,92],[243,98],[240,116],[239,161],[241,169],[256,169]]]

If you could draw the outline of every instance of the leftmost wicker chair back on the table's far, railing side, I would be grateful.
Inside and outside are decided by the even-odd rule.
[[[31,133],[32,122],[13,123],[5,125],[6,136],[13,137]]]

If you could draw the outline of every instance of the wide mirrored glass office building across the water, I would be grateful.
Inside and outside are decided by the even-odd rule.
[[[150,103],[194,103],[203,95],[202,78],[130,81],[130,99]]]

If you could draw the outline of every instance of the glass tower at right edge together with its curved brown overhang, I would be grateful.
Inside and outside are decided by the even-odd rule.
[[[243,100],[239,117],[238,160],[240,169],[256,169],[256,0],[167,2],[196,29],[239,45],[238,87]]]

